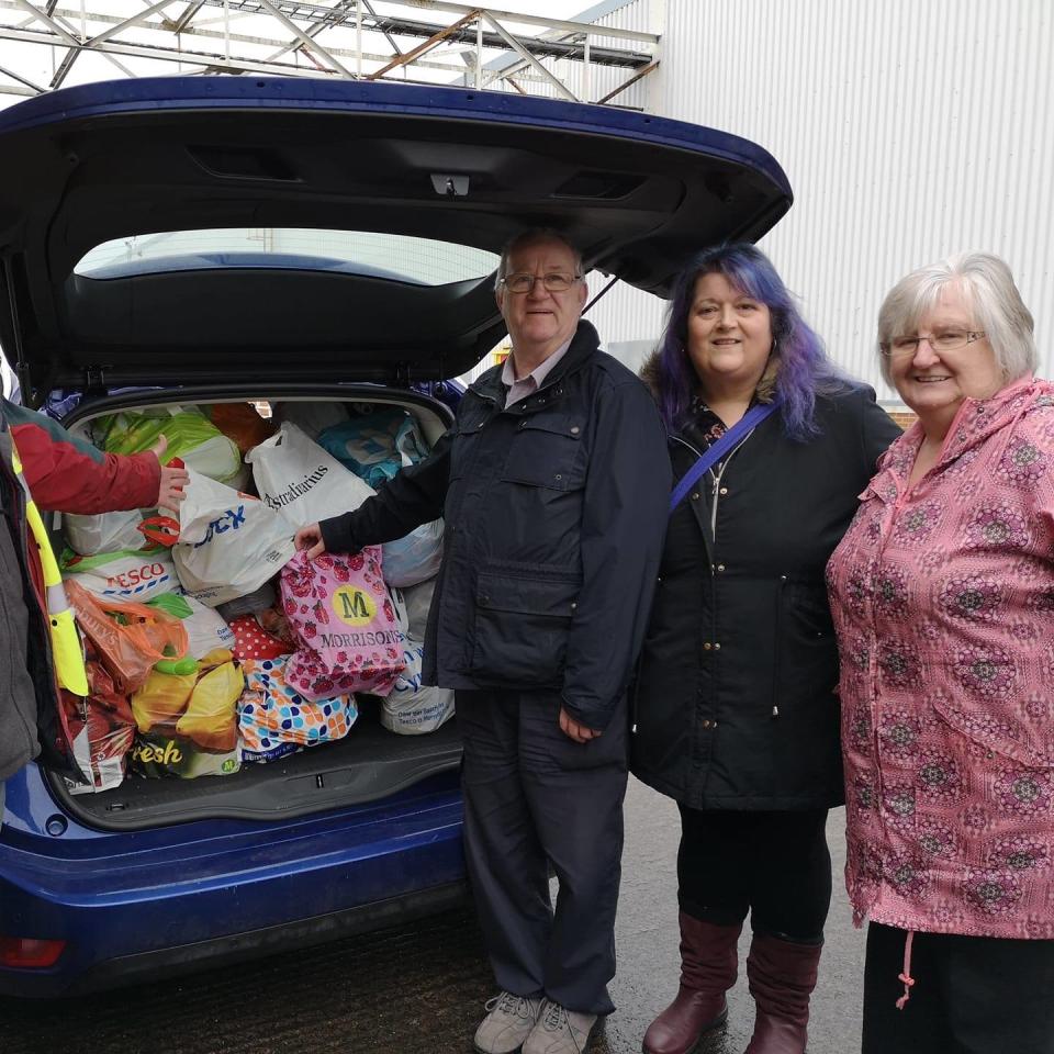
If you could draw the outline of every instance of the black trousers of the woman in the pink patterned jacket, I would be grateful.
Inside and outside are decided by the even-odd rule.
[[[898,1010],[906,938],[867,928],[863,1054],[1054,1054],[1054,941],[916,933]]]

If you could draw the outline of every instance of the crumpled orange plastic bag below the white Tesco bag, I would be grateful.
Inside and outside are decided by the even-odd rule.
[[[80,631],[121,694],[141,687],[155,663],[187,654],[190,643],[181,619],[145,604],[96,596],[70,580],[64,584]]]

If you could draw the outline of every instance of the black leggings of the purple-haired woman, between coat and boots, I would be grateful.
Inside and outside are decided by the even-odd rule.
[[[780,812],[681,806],[677,900],[715,926],[750,912],[755,932],[818,944],[831,906],[827,809]]]

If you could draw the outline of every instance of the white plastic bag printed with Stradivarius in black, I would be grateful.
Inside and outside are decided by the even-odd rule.
[[[350,512],[373,494],[372,487],[290,422],[254,447],[245,460],[253,466],[260,498],[294,527]]]

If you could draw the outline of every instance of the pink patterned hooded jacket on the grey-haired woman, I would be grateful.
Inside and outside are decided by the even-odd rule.
[[[857,926],[1054,938],[1054,384],[889,448],[827,568]]]

